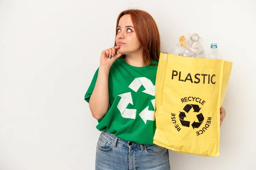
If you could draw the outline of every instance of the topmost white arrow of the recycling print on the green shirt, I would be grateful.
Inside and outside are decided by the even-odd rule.
[[[155,95],[155,86],[153,83],[150,81],[150,79],[146,77],[139,77],[134,79],[133,82],[129,85],[129,88],[131,88],[133,91],[137,92],[140,88],[140,86],[143,85],[145,90],[143,93],[149,94],[151,96]]]

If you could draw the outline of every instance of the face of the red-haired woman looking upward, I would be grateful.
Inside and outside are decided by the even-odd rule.
[[[123,15],[117,26],[116,45],[120,48],[119,53],[131,55],[141,52],[141,45],[137,39],[131,15]]]

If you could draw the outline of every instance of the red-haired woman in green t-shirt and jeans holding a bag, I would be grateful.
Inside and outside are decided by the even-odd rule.
[[[102,51],[84,97],[102,131],[96,170],[170,169],[167,149],[153,144],[159,55],[160,35],[151,15],[141,10],[121,12],[115,45]],[[225,113],[222,108],[221,122]]]

